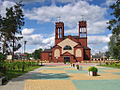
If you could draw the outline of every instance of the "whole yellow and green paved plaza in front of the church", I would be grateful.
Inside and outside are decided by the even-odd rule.
[[[82,70],[69,64],[46,64],[12,79],[0,90],[120,90],[120,69],[96,66],[98,76],[88,76],[88,68],[95,64],[80,66]]]

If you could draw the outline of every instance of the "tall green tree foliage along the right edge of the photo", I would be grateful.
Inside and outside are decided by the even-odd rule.
[[[109,26],[107,27],[112,31],[112,36],[110,37],[109,42],[109,51],[113,58],[120,59],[120,1],[117,0],[116,3],[110,6],[110,8],[113,10],[111,15],[114,18],[109,20]]]

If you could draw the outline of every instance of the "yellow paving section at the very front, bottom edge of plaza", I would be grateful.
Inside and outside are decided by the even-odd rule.
[[[77,90],[71,80],[27,80],[24,90]]]

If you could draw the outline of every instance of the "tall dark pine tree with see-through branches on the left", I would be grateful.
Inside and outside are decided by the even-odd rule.
[[[12,52],[14,59],[14,52],[17,51],[21,44],[18,42],[22,39],[21,27],[24,26],[24,15],[22,11],[23,4],[16,3],[13,7],[6,8],[6,17],[2,18],[1,37],[3,40],[3,53]]]

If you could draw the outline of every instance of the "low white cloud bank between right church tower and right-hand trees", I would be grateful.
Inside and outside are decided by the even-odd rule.
[[[112,34],[88,36],[88,47],[91,48],[92,54],[97,52],[105,52],[108,50],[108,42],[110,41],[110,36]]]

